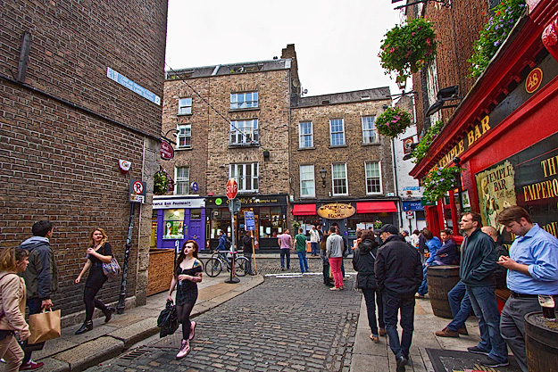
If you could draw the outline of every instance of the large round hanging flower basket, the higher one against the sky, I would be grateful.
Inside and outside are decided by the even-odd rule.
[[[396,25],[387,31],[378,54],[386,74],[396,72],[401,77],[411,76],[436,55],[436,34],[432,23],[422,18]]]

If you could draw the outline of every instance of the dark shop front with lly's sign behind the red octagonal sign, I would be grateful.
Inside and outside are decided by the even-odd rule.
[[[277,236],[287,228],[287,194],[238,195],[240,211],[234,216],[231,225],[229,200],[226,196],[212,196],[205,198],[205,246],[215,249],[219,244],[219,230],[231,236],[232,227],[235,228],[237,244],[246,230],[245,212],[254,213],[255,249],[256,252],[279,251]]]

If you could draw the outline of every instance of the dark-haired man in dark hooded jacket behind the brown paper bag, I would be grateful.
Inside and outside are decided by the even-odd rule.
[[[53,307],[50,297],[58,289],[58,267],[50,246],[50,238],[54,232],[53,224],[49,220],[37,221],[31,227],[31,231],[33,236],[20,245],[21,248],[29,251],[29,265],[23,271],[29,315],[38,314],[42,310],[50,310]],[[37,347],[37,344],[33,346]],[[23,351],[25,355],[20,370],[34,370],[45,365],[42,361],[31,360],[31,351],[27,341],[23,343]]]

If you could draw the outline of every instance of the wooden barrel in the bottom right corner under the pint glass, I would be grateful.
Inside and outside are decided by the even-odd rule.
[[[558,323],[542,312],[525,315],[525,349],[529,372],[558,372]]]

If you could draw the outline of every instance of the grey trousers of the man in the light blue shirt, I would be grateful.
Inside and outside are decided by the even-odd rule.
[[[556,301],[554,301],[556,302]],[[558,303],[558,302],[557,302]],[[525,352],[525,314],[540,311],[537,297],[512,298],[505,302],[500,318],[500,332],[510,346],[517,364],[523,372],[527,372],[527,355]]]

